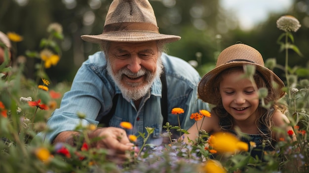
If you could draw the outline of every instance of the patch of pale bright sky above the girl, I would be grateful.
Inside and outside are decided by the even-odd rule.
[[[241,29],[250,30],[267,19],[269,12],[284,12],[293,0],[220,0],[223,8],[235,11]]]

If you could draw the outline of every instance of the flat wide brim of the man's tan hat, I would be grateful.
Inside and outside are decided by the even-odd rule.
[[[174,42],[181,37],[177,35],[164,35],[154,32],[111,32],[100,35],[81,35],[81,38],[87,42],[101,43],[102,41],[115,42],[147,42],[161,40],[164,43]]]

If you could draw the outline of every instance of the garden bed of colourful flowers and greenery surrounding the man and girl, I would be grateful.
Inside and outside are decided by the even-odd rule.
[[[309,80],[298,79],[297,70],[288,66],[288,50],[294,50],[300,56],[301,51],[294,44],[291,32],[297,32],[300,24],[293,16],[282,16],[277,21],[277,28],[284,31],[277,42],[281,51],[286,51],[286,64],[281,67],[275,59],[268,59],[266,66],[270,69],[284,70],[287,81],[284,90],[287,95],[281,102],[288,105],[287,116],[294,127],[294,132],[280,132],[289,139],[277,142],[275,151],[265,151],[263,160],[250,156],[251,150],[238,138],[218,134],[209,136],[201,129],[193,144],[186,144],[182,139],[172,139],[171,143],[161,146],[144,144],[136,152],[128,152],[128,160],[120,161],[111,157],[113,153],[106,149],[89,147],[91,141],[87,133],[96,129],[94,125],[77,125],[81,133],[76,146],[65,143],[55,145],[43,143],[34,138],[38,132],[49,131],[46,120],[60,104],[61,96],[70,89],[65,83],[50,84],[46,68],[56,66],[61,55],[57,40],[63,39],[59,24],[51,24],[47,32],[49,37],[42,38],[40,52],[27,51],[27,58],[41,61],[37,65],[37,79],[27,79],[23,75],[26,57],[16,59],[16,65],[6,67],[8,60],[0,65],[0,172],[2,173],[308,173],[309,172]],[[10,33],[12,42],[22,41],[20,35]],[[283,40],[283,41],[282,41]],[[8,50],[5,50],[8,57]],[[302,69],[306,70],[306,69]],[[308,70],[308,69],[307,69]],[[267,106],[267,105],[266,105]],[[171,110],[175,116],[181,116],[182,108]],[[195,121],[203,120],[211,114],[206,110],[192,112]],[[85,115],[80,114],[80,119]],[[123,128],[131,125],[123,122]],[[170,137],[170,130],[186,133],[180,126],[163,127]],[[198,127],[197,127],[198,128]],[[278,129],[273,129],[278,131]],[[153,133],[140,134],[139,138],[147,141]],[[205,140],[205,137],[208,140]],[[129,136],[134,142],[136,136]],[[263,141],[267,144],[269,141]],[[250,142],[251,148],[255,147]],[[297,149],[298,148],[298,149]],[[214,159],[210,159],[216,154]]]

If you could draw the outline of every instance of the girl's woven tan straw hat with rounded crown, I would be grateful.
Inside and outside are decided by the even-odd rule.
[[[278,87],[274,89],[277,92],[276,95],[280,98],[285,95],[285,92],[281,90],[284,87],[283,81],[270,69],[264,67],[260,52],[246,44],[234,44],[220,53],[216,68],[202,77],[198,84],[198,97],[209,104],[218,104],[216,102],[220,96],[215,92],[217,86],[213,86],[216,76],[225,69],[244,65],[255,65],[256,70],[262,74],[266,82],[271,83],[271,81],[274,81],[278,84]],[[272,85],[270,84],[270,86]]]

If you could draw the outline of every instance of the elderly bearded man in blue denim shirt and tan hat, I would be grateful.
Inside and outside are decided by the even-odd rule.
[[[47,125],[53,130],[46,134],[49,141],[73,144],[73,137],[78,136],[74,129],[80,122],[80,112],[86,115],[83,125],[101,122],[109,126],[88,134],[89,138],[103,137],[93,146],[123,155],[133,148],[127,135],[147,134],[145,127],[154,128],[147,142],[161,144],[163,115],[171,125],[178,125],[177,115],[171,114],[174,107],[185,110],[180,115],[182,129],[193,125],[191,113],[208,109],[197,99],[197,71],[187,62],[163,53],[165,43],[179,40],[180,36],[159,34],[148,0],[114,0],[103,33],[81,38],[100,44],[103,51],[82,64],[71,91],[48,119]],[[160,78],[160,74],[164,77]],[[133,129],[121,129],[121,122],[130,122]],[[135,142],[137,146],[142,143],[143,138]]]

